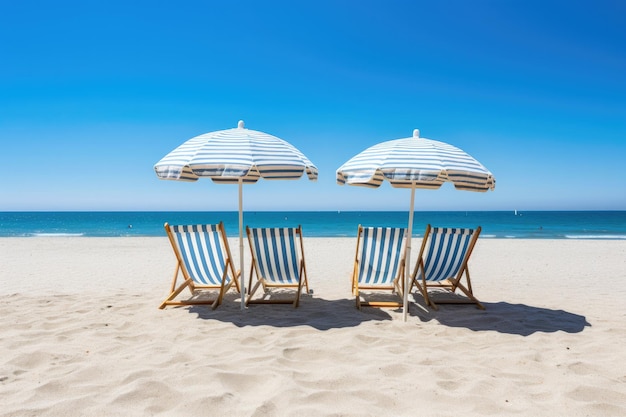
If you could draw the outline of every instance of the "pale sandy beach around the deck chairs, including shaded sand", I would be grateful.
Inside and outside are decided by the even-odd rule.
[[[0,416],[626,415],[626,241],[480,239],[486,310],[407,322],[355,308],[355,244],[305,231],[298,309],[213,311],[157,308],[165,236],[0,239]]]

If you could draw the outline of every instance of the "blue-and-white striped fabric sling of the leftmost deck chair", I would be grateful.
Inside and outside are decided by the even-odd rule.
[[[219,225],[168,227],[191,279],[199,285],[220,286],[226,258]]]

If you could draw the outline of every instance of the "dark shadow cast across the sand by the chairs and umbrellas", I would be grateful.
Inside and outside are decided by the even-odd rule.
[[[495,331],[506,334],[529,336],[534,333],[567,332],[579,333],[590,327],[584,316],[564,310],[533,307],[507,302],[486,303],[485,310],[474,305],[439,305],[439,310],[425,307],[423,299],[410,302],[409,314],[421,322],[435,320],[444,326],[465,327],[473,331]],[[326,300],[303,294],[300,306],[250,305],[241,311],[240,298],[234,293],[227,294],[221,306],[211,310],[205,306],[190,306],[188,311],[198,318],[232,323],[238,327],[310,326],[318,330],[355,327],[368,321],[398,320],[392,317],[389,309],[365,307],[358,310],[354,299]],[[400,309],[395,310],[400,312]]]

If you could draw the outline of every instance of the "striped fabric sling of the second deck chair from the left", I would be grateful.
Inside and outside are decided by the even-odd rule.
[[[271,284],[300,281],[297,228],[248,228],[248,239],[258,274]]]

